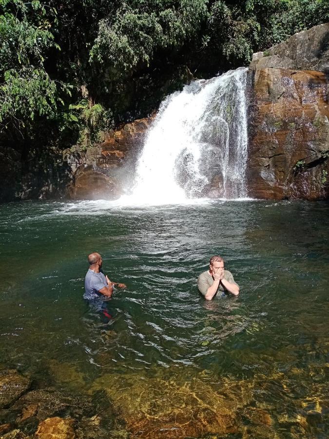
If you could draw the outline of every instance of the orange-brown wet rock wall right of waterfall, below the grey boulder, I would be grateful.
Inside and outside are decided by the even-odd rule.
[[[250,118],[250,196],[328,197],[329,105],[324,73],[256,69]]]

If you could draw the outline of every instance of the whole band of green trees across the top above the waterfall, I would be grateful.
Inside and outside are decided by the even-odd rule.
[[[327,0],[0,0],[0,139],[95,141],[192,74],[246,65],[326,21]]]

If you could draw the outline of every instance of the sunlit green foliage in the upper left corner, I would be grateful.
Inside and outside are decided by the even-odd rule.
[[[56,21],[38,0],[1,0],[0,16],[0,131],[20,129],[36,116],[54,118],[69,86],[52,80],[44,68],[46,53],[59,49],[48,30]]]

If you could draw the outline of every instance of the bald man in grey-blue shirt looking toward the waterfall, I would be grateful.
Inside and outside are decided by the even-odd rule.
[[[104,276],[100,271],[102,268],[102,257],[99,253],[92,253],[88,256],[89,270],[84,279],[84,299],[94,300],[102,296],[111,297],[114,283]]]

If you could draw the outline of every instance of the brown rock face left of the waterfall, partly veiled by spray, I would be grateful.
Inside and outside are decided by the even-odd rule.
[[[81,157],[69,151],[65,159],[75,171],[68,195],[79,200],[116,200],[131,188],[138,154],[152,122],[135,120],[121,129],[104,133],[99,146],[89,148]]]

